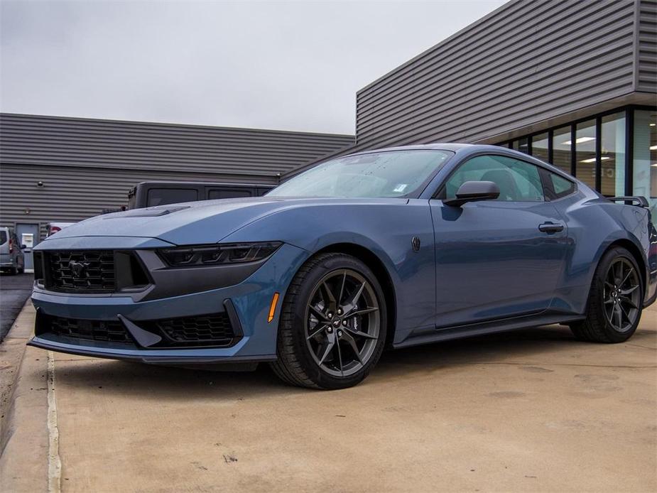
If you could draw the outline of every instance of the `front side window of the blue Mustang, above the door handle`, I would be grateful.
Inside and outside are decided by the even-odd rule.
[[[506,156],[477,156],[463,163],[445,183],[445,198],[455,198],[467,181],[492,181],[501,202],[542,202],[543,185],[538,167]]]

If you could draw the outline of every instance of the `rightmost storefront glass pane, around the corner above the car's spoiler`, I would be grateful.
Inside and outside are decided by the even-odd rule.
[[[653,224],[657,224],[657,112],[634,112],[634,190],[650,202]]]

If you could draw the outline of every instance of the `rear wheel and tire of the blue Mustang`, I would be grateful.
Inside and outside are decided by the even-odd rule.
[[[630,268],[634,273],[630,273]],[[617,282],[626,276],[626,281]],[[602,256],[595,270],[586,319],[570,324],[570,330],[579,340],[624,342],[639,326],[643,300],[643,280],[634,256],[623,247],[613,247]]]

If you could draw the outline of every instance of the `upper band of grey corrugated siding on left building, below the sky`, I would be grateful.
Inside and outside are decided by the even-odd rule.
[[[353,136],[0,114],[2,163],[275,176]]]

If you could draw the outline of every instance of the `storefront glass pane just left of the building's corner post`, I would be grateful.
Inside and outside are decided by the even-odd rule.
[[[602,117],[600,192],[607,197],[625,195],[625,113]]]

